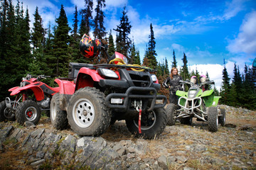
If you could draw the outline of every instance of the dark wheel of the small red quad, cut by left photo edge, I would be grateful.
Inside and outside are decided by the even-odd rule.
[[[6,108],[6,102],[1,101],[0,103],[0,122],[4,120],[15,120],[15,111],[10,108]]]

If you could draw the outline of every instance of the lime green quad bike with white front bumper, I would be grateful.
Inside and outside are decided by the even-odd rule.
[[[214,81],[203,81],[194,84],[191,81],[180,81],[181,84],[191,86],[188,91],[176,91],[178,106],[171,103],[166,106],[168,125],[175,125],[176,120],[182,124],[191,125],[192,119],[208,123],[211,132],[218,131],[218,123],[225,126],[225,109],[218,107],[220,96],[214,96],[213,89],[204,90],[205,86],[214,84]]]

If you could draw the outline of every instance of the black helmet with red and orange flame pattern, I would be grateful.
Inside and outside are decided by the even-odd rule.
[[[84,34],[79,44],[80,52],[87,58],[97,57],[100,53],[101,42],[98,39],[92,40],[88,35]]]

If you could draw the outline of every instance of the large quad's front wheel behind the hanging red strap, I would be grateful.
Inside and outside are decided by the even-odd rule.
[[[139,117],[139,116],[138,116]],[[132,134],[137,137],[144,137],[144,139],[152,139],[158,137],[164,131],[167,124],[166,110],[164,108],[157,108],[154,111],[142,114],[141,130],[139,134],[139,119],[125,120],[127,128]]]

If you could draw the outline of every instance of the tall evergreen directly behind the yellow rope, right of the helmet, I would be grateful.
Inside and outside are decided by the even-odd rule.
[[[129,34],[131,33],[132,26],[130,25],[129,18],[127,16],[126,6],[124,6],[124,10],[122,11],[122,17],[120,18],[120,24],[117,26],[117,52],[122,53],[122,55],[126,56],[128,62],[129,59],[129,50],[131,47],[131,40],[129,38]]]

